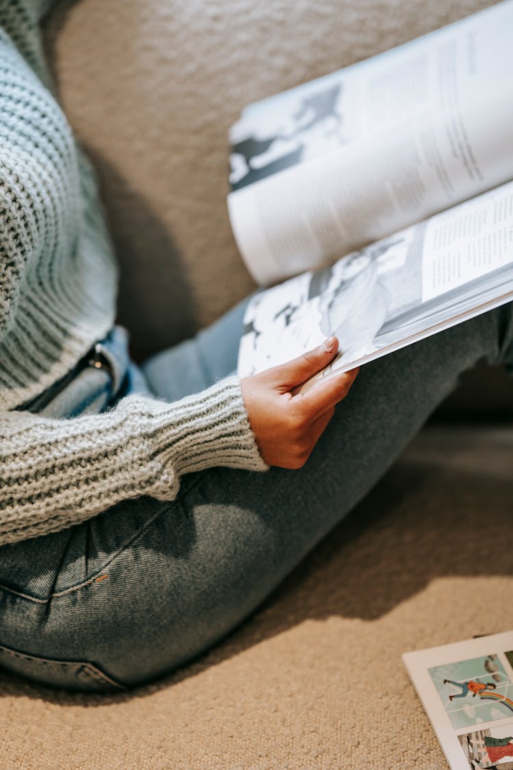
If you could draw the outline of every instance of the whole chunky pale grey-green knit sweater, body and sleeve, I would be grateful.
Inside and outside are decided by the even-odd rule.
[[[38,21],[0,3],[0,544],[58,531],[184,473],[265,470],[236,377],[175,403],[132,395],[98,415],[19,410],[112,327],[116,271],[92,169],[52,96]]]

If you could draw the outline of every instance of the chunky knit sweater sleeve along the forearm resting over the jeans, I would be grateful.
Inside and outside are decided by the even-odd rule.
[[[148,494],[172,500],[182,474],[265,470],[238,379],[174,403],[128,396],[99,415],[0,412],[0,544],[58,531]]]

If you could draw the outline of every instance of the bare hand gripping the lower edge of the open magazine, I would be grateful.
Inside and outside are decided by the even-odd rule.
[[[261,456],[268,465],[302,467],[345,398],[358,369],[321,380],[306,393],[295,388],[328,366],[338,351],[330,337],[288,363],[241,380],[242,397]]]

